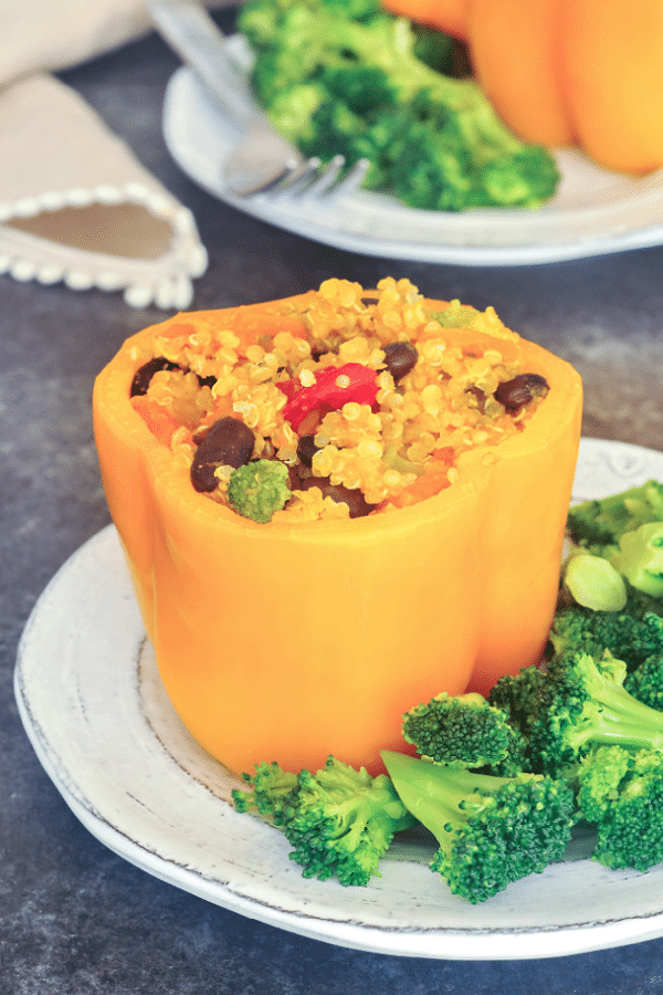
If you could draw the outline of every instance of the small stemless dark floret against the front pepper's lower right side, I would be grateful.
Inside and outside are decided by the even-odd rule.
[[[501,709],[481,694],[455,698],[446,692],[403,715],[406,743],[435,763],[463,767],[499,767],[519,754],[519,733]]]

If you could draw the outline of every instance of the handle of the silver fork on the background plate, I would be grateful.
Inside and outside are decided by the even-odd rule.
[[[263,112],[225,51],[225,35],[198,0],[148,0],[151,21],[235,124],[250,127]]]

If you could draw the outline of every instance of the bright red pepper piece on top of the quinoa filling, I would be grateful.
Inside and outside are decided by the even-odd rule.
[[[292,385],[297,385],[293,392]],[[334,410],[343,408],[349,401],[358,405],[370,405],[377,408],[378,375],[360,363],[346,363],[345,366],[326,366],[315,373],[315,384],[302,387],[298,380],[285,380],[276,384],[288,401],[283,409],[283,417],[290,421],[295,431],[306,416],[327,405]]]

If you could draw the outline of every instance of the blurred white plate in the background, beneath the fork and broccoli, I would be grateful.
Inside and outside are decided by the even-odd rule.
[[[245,62],[241,40],[231,39],[230,46]],[[222,175],[240,134],[185,67],[168,84],[162,127],[173,159],[210,193],[277,228],[349,252],[429,263],[529,265],[663,243],[663,171],[631,179],[573,150],[558,154],[562,180],[545,207],[448,213],[413,210],[366,191],[316,200],[236,197]]]

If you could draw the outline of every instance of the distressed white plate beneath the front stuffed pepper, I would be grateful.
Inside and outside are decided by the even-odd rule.
[[[582,441],[576,498],[663,480],[663,453]],[[81,821],[186,891],[305,936],[379,953],[547,957],[663,935],[663,866],[615,872],[582,856],[482,905],[450,894],[415,836],[366,888],[307,881],[276,830],[229,804],[239,782],[188,735],[159,681],[112,526],[55,575],[25,627],[15,692],[28,736]],[[265,757],[272,760],[272,757]]]

